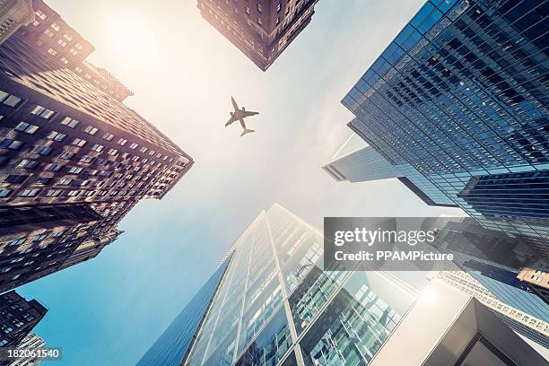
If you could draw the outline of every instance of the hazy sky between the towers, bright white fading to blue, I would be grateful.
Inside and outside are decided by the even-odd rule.
[[[340,100],[423,0],[320,0],[266,73],[194,0],[46,2],[95,46],[88,60],[135,92],[126,104],[196,161],[161,201],[140,202],[99,257],[18,290],[48,307],[35,330],[63,348],[55,364],[134,365],[275,202],[319,228],[324,216],[462,214],[396,179],[351,184],[320,169],[351,135]],[[224,127],[231,96],[261,112],[248,119],[256,134]]]

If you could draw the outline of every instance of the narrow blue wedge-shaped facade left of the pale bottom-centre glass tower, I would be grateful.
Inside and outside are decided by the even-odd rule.
[[[137,366],[179,366],[183,362],[194,339],[193,335],[200,327],[230,261],[231,257],[219,266],[170,327],[137,362]]]

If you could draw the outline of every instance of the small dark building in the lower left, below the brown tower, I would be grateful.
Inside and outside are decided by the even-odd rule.
[[[0,347],[20,344],[47,312],[39,301],[27,301],[17,292],[0,295]]]

